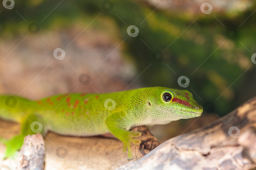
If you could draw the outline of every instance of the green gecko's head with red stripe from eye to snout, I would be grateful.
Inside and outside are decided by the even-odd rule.
[[[153,104],[158,118],[165,117],[165,120],[173,121],[201,116],[203,107],[198,105],[189,91],[156,88],[158,93]]]

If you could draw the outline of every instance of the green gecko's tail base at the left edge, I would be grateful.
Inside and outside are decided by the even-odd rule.
[[[14,96],[0,96],[0,117],[4,120],[21,122],[24,116],[32,110],[34,101]]]

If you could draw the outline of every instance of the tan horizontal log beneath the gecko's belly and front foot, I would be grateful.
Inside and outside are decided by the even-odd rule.
[[[6,131],[6,127],[12,129]],[[10,139],[14,135],[19,134],[19,130],[18,124],[0,120],[0,136]],[[139,159],[160,144],[146,127],[135,127],[133,130],[142,132],[142,136],[137,138],[142,140],[142,144],[131,144],[134,156],[134,159],[131,161]],[[48,133],[44,139],[47,155],[45,157],[45,170],[116,169],[131,162],[127,160],[127,153],[122,153],[123,144],[119,139],[101,136],[77,138],[62,136],[52,132]],[[62,156],[64,155],[63,150],[57,154],[56,151],[59,147],[64,147],[68,151],[67,155]],[[4,152],[5,146],[0,144],[0,160],[3,158]],[[24,153],[24,151],[21,152]],[[5,159],[2,162],[0,161],[0,169],[17,169],[18,164],[19,166],[24,165],[24,163],[20,163],[20,160],[21,156],[15,160]]]

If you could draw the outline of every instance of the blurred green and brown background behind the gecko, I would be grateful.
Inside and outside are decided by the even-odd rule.
[[[151,86],[192,92],[203,115],[153,127],[163,142],[255,96],[255,7],[249,0],[3,0],[0,91],[29,99]]]

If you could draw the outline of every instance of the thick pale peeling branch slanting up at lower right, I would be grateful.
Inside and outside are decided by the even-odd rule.
[[[212,124],[162,143],[118,169],[250,169],[256,167],[256,97]]]

